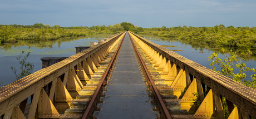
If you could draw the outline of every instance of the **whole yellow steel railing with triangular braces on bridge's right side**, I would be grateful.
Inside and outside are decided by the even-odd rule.
[[[161,78],[173,88],[181,109],[194,114],[193,118],[224,118],[224,110],[230,114],[229,118],[256,117],[256,90],[132,34],[144,53],[155,61]]]

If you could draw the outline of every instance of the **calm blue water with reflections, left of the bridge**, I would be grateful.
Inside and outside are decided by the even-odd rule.
[[[98,34],[88,37],[62,38],[56,41],[18,41],[18,43],[5,43],[0,46],[0,85],[8,85],[16,81],[16,77],[11,70],[15,67],[17,72],[19,64],[16,57],[25,51],[31,52],[27,62],[34,66],[33,72],[42,69],[42,57],[70,57],[76,53],[77,46],[90,46],[90,42],[98,42],[111,36],[111,34]],[[2,84],[1,84],[2,82]]]

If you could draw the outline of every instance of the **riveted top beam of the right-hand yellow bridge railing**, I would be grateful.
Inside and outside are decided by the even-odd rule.
[[[256,90],[220,75],[209,68],[201,66],[194,61],[170,51],[169,49],[161,47],[159,44],[147,41],[147,39],[137,36],[136,34],[134,35],[142,42],[155,49],[155,51],[163,54],[164,57],[169,58],[170,61],[185,69],[185,71],[189,72],[206,86],[227,98],[227,100],[234,103],[234,105],[238,106],[241,110],[244,110],[248,112],[249,115],[256,117]]]

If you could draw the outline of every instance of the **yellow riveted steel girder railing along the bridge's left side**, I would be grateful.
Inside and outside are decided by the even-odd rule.
[[[0,118],[61,117],[124,36],[115,34],[49,67],[0,88]],[[9,79],[7,79],[9,80]],[[28,102],[30,98],[31,102]]]

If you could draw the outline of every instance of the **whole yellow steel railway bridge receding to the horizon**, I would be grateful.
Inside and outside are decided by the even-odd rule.
[[[80,51],[1,87],[0,118],[256,118],[254,89],[132,32]]]

